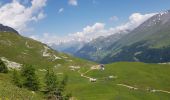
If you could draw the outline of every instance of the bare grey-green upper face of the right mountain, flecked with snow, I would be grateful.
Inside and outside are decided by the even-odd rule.
[[[118,42],[119,45],[125,46],[139,41],[148,41],[155,47],[158,46],[158,44],[164,42],[163,45],[161,44],[161,46],[165,46],[166,42],[164,40],[167,40],[166,37],[169,37],[170,35],[169,27],[170,11],[166,11],[151,17],[135,30],[133,30],[130,34],[120,39]],[[169,45],[169,43],[167,44]]]

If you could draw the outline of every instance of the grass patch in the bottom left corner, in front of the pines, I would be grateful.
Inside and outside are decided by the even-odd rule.
[[[25,88],[16,87],[11,81],[11,74],[0,74],[0,99],[8,100],[43,100],[44,96],[41,93],[33,93]]]

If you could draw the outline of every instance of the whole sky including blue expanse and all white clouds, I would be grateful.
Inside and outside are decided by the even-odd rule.
[[[48,44],[133,30],[170,0],[0,0],[0,23]]]

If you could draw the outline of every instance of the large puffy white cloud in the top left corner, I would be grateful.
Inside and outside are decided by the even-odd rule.
[[[22,5],[19,0],[0,7],[0,23],[15,28],[19,32],[27,30],[27,25],[31,21],[38,21],[45,17],[43,7],[47,0],[32,0],[31,6]]]

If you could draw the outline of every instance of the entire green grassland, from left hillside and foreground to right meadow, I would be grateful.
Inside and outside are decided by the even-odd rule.
[[[20,64],[34,65],[36,73],[41,77],[41,90],[44,88],[42,83],[45,74],[45,71],[41,70],[50,66],[54,68],[58,77],[68,75],[66,91],[72,93],[73,100],[169,100],[170,98],[169,93],[150,92],[154,89],[170,91],[170,65],[120,62],[106,65],[104,71],[91,70],[95,63],[50,48],[47,51],[51,56],[44,57],[44,46],[46,45],[14,33],[0,33],[0,56]],[[61,59],[54,59],[54,55]],[[97,81],[90,82],[85,76],[95,78]],[[117,78],[109,79],[109,76]],[[11,73],[0,74],[0,98],[44,99],[44,94],[35,92],[33,95],[32,91],[13,85],[11,80]],[[129,89],[118,84],[138,89]]]

